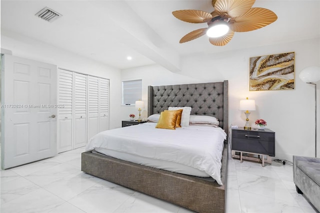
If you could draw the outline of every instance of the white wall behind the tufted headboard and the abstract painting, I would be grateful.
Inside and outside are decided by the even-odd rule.
[[[316,38],[222,54],[187,56],[181,59],[181,73],[171,73],[157,65],[150,65],[122,70],[121,80],[142,79],[144,101],[147,85],[228,80],[229,124],[243,126],[245,115],[238,110],[239,101],[245,97],[255,100],[256,111],[252,111],[249,117],[251,124],[258,118],[266,120],[267,128],[275,132],[275,158],[291,161],[292,155],[314,156],[314,87],[303,83],[298,75],[305,67],[320,65],[319,47],[320,40]],[[249,58],[287,52],[295,52],[294,90],[249,92]],[[317,83],[317,88],[319,87],[320,84]],[[319,89],[317,94],[320,94]],[[317,120],[320,121],[319,107],[317,111]],[[129,113],[136,112],[134,107],[123,106],[121,118],[128,119]],[[146,117],[146,108],[143,115]],[[320,123],[317,125],[320,126]],[[319,131],[317,133],[320,135]],[[319,147],[319,137],[317,144]],[[319,150],[320,148],[317,155],[320,155]]]

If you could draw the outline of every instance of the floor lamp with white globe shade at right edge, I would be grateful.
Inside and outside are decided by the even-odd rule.
[[[314,85],[314,136],[315,136],[315,151],[314,151],[314,155],[316,157],[316,84],[315,82],[320,80],[320,67],[307,67],[304,68],[300,74],[299,74],[299,78],[307,83],[307,84],[312,84]]]

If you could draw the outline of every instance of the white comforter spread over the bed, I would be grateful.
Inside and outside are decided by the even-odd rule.
[[[99,147],[173,161],[204,171],[222,185],[220,169],[226,134],[221,128],[187,126],[168,130],[155,125],[143,123],[100,132],[90,139],[86,151]]]

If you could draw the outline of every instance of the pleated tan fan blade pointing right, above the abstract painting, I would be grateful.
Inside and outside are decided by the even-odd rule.
[[[229,27],[235,32],[248,32],[263,28],[277,20],[277,16],[265,8],[251,8],[242,16],[232,18]]]

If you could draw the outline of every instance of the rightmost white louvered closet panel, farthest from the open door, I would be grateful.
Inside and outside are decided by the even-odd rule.
[[[109,129],[109,80],[99,79],[99,130]]]

